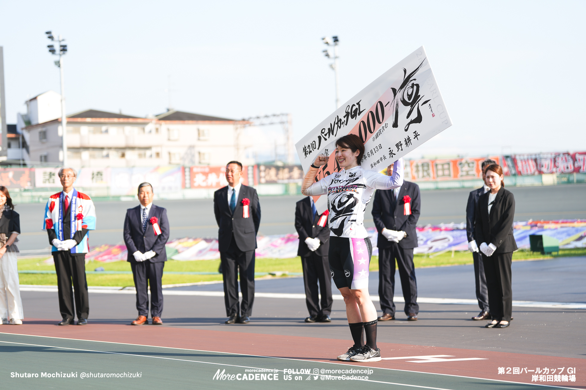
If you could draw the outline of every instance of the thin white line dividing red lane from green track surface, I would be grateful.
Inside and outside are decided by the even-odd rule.
[[[287,358],[287,357],[275,357],[275,356],[263,356],[263,355],[253,355],[253,354],[241,354],[241,353],[236,353],[236,352],[223,352],[223,351],[207,351],[207,350],[194,350],[194,349],[190,349],[190,348],[176,348],[176,347],[161,347],[161,346],[149,346],[147,344],[132,344],[132,343],[117,343],[116,341],[101,341],[101,340],[86,340],[86,339],[71,339],[69,337],[54,337],[54,336],[39,336],[38,334],[20,334],[20,333],[6,333],[6,332],[0,332],[0,334],[9,334],[11,336],[29,336],[29,337],[43,337],[46,339],[57,339],[57,340],[74,340],[74,341],[90,341],[92,343],[105,343],[105,344],[121,344],[121,345],[127,345],[127,346],[138,346],[138,347],[152,347],[152,348],[166,348],[166,349],[174,349],[174,350],[182,350],[182,351],[196,351],[196,352],[211,352],[211,353],[224,353],[224,354],[231,354],[231,355],[240,355],[240,356],[252,356],[252,357],[265,357],[265,358],[271,358],[271,359],[281,359],[281,360],[292,360],[292,361],[305,361],[307,363],[323,363],[323,364],[336,364],[336,365],[343,365],[344,367],[347,366],[347,364],[343,364],[343,363],[335,363],[335,362],[331,362],[331,361],[314,361],[314,360],[305,360],[305,359],[294,359],[294,358]],[[9,343],[10,341],[2,341],[0,340],[0,342],[2,343]],[[30,344],[33,345],[33,344]],[[53,348],[62,348],[62,347],[53,347]],[[144,355],[139,355],[139,356],[144,356]],[[176,359],[176,360],[180,360],[180,359]],[[193,361],[193,360],[189,360],[189,361]],[[202,362],[202,363],[208,363],[208,362]],[[214,363],[214,364],[218,364],[218,365],[231,365],[231,364],[220,364],[220,363]],[[243,366],[236,366],[234,365],[234,367],[243,367]],[[526,382],[515,382],[515,381],[504,381],[502,379],[489,379],[489,378],[478,378],[478,377],[466,377],[464,375],[454,375],[454,374],[440,374],[439,372],[423,372],[423,371],[414,371],[414,370],[400,370],[398,368],[386,368],[386,367],[373,367],[372,365],[360,365],[360,367],[366,367],[366,368],[377,368],[378,370],[389,370],[389,371],[401,371],[401,372],[413,372],[415,374],[429,374],[429,375],[441,375],[444,377],[455,377],[455,378],[468,378],[468,379],[480,379],[482,381],[493,381],[493,382],[503,382],[503,383],[512,383],[512,384],[523,384],[523,385],[532,385],[532,386],[545,386],[545,387],[553,387],[553,388],[558,388],[558,389],[570,389],[570,390],[576,390],[575,387],[563,387],[563,386],[554,386],[554,385],[541,385],[541,384],[533,384],[533,383],[526,383]],[[249,368],[249,367],[247,367]],[[258,368],[258,367],[253,367],[253,368]],[[282,371],[282,370],[279,370]],[[319,374],[321,376],[321,374]],[[388,384],[393,384],[391,382],[379,382],[379,381],[372,381],[369,379],[369,382],[377,382],[377,383],[388,383]],[[406,384],[397,384],[397,385],[404,385],[404,386],[411,386],[411,385],[406,385]],[[414,386],[414,385],[413,385]],[[445,389],[448,390],[448,389]]]

